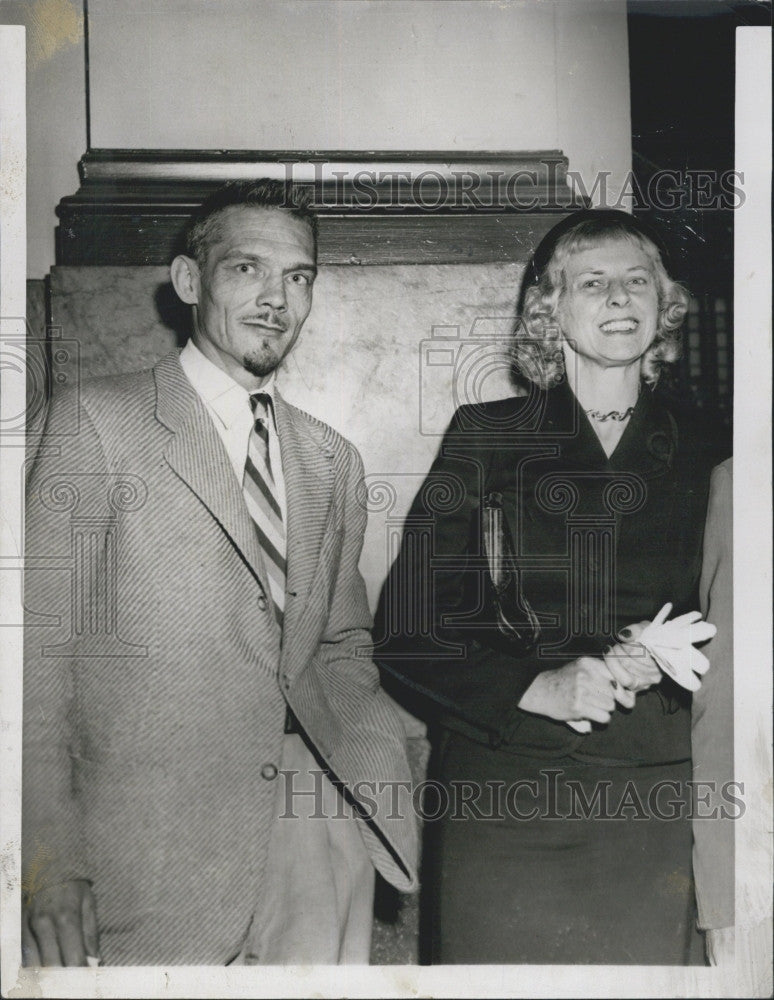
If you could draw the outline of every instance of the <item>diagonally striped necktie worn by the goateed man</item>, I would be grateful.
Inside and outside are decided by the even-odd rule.
[[[255,421],[247,444],[242,492],[247,509],[255,522],[255,530],[264,557],[269,590],[274,602],[277,621],[282,625],[285,611],[286,548],[282,509],[277,500],[277,487],[271,472],[269,457],[269,425],[271,396],[265,392],[250,396]]]

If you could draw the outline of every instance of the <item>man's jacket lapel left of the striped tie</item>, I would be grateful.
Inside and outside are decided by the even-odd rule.
[[[252,518],[223,442],[177,354],[154,368],[156,417],[173,432],[164,458],[239,549],[268,594],[268,580]]]

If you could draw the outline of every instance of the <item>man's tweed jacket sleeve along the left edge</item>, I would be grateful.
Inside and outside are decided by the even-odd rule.
[[[91,595],[74,592],[73,529],[99,523],[90,487],[107,474],[98,435],[75,395],[49,412],[27,484],[24,578],[24,707],[22,749],[22,871],[29,896],[69,879],[88,879],[73,762],[77,733],[76,665],[88,621],[77,607]],[[80,557],[104,557],[95,535]]]

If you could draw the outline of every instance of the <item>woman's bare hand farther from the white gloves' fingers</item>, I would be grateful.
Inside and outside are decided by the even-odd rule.
[[[556,670],[538,674],[524,692],[519,708],[559,722],[590,719],[605,724],[610,721],[616,701],[631,708],[634,694],[622,687],[616,690],[614,675],[604,660],[581,656]]]

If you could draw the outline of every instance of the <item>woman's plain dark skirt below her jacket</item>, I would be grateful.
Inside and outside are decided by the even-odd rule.
[[[456,733],[443,744],[424,806],[432,962],[702,964],[690,761],[549,763]]]

